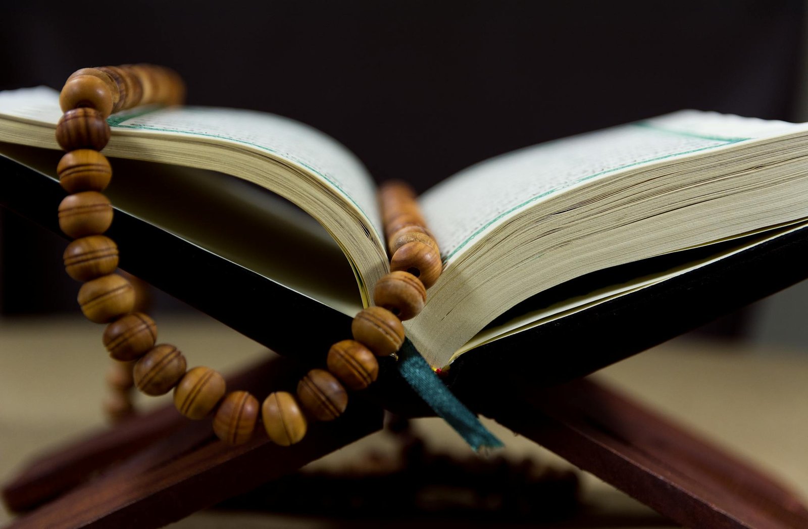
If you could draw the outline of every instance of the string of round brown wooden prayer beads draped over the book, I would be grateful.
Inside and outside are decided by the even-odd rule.
[[[112,169],[99,151],[107,145],[112,112],[143,104],[181,104],[185,89],[179,76],[156,65],[102,66],[73,73],[61,90],[64,111],[57,142],[67,153],[57,166],[61,186],[69,193],[59,205],[59,226],[74,241],[65,250],[65,269],[82,281],[78,303],[96,323],[106,323],[103,344],[121,364],[107,376],[114,389],[107,412],[131,410],[126,395],[134,385],[147,395],[174,390],[179,413],[191,419],[213,414],[213,431],[225,443],[246,443],[259,412],[269,439],[282,446],[299,442],[309,420],[330,421],[347,407],[347,391],[367,388],[377,379],[376,357],[395,355],[404,342],[402,320],[415,317],[427,300],[426,289],[442,270],[440,250],[426,227],[415,194],[404,183],[380,189],[382,217],[391,272],[373,289],[376,305],[351,322],[353,339],[336,342],[326,359],[327,371],[312,369],[297,384],[297,394],[271,393],[260,405],[245,391],[227,392],[225,379],[210,367],[187,370],[176,346],[157,343],[157,325],[143,312],[133,312],[132,284],[115,273],[118,248],[103,235],[112,224],[112,204],[103,191]],[[133,366],[131,377],[128,366]]]

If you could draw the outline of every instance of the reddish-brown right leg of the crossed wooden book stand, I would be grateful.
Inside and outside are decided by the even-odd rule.
[[[515,398],[492,417],[686,527],[808,527],[785,486],[590,380]]]

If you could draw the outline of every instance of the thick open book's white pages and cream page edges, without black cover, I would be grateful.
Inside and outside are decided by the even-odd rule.
[[[60,117],[56,90],[0,92],[0,153],[55,178]],[[376,187],[337,141],[276,115],[221,108],[144,108],[108,121],[103,153],[133,160],[112,162],[116,207],[349,316],[370,303],[368,288],[389,266]],[[808,124],[680,111],[462,170],[419,199],[444,272],[405,322],[407,336],[444,366],[800,229],[806,147]],[[663,270],[599,276],[587,292],[541,298],[662,255],[671,256]]]

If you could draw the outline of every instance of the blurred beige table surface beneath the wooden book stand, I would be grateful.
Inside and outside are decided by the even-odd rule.
[[[208,317],[158,314],[155,319],[160,342],[177,344],[189,366],[229,372],[266,354],[259,344]],[[102,331],[79,316],[0,319],[0,480],[9,479],[38,452],[103,426],[103,378],[110,360],[101,345]],[[751,460],[808,498],[808,352],[680,338],[596,377]],[[146,407],[166,402],[166,397],[138,399]],[[507,457],[568,465],[494,422],[486,425],[506,443]],[[415,428],[430,447],[468,453],[439,419],[420,419]],[[368,449],[384,451],[390,445],[387,437],[372,435],[313,465],[339,468]],[[583,475],[582,490],[582,514],[565,527],[675,527],[591,475]],[[9,519],[0,510],[0,524]],[[273,527],[343,525],[209,510],[172,527],[249,528],[269,522]]]

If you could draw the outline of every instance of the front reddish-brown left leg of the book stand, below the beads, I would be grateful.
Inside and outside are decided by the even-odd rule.
[[[266,436],[230,447],[208,421],[186,426],[103,477],[11,523],[9,528],[162,527],[245,493],[381,428],[381,410],[355,403],[338,421],[318,423],[301,443]]]

